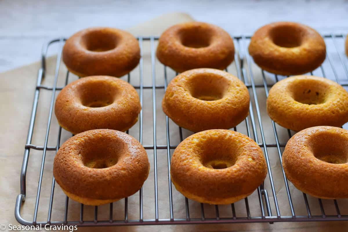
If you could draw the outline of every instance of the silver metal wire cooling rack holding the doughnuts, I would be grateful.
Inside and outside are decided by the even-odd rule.
[[[341,63],[344,73],[346,75],[346,78],[348,80],[348,67],[347,67],[347,60],[346,57],[344,57],[341,54],[341,51],[339,49],[337,39],[343,40],[345,39],[344,35],[342,34],[328,34],[323,36],[325,39],[332,40],[335,50],[339,57],[339,62]],[[156,131],[159,129],[164,128],[157,128],[157,118],[156,118],[156,90],[157,89],[164,89],[166,90],[167,84],[168,84],[168,74],[167,74],[167,67],[164,66],[164,85],[156,85],[156,71],[155,71],[155,41],[157,40],[157,37],[139,37],[139,45],[141,48],[141,55],[143,52],[143,43],[144,41],[150,42],[150,51],[151,51],[151,79],[152,84],[151,85],[144,85],[143,81],[143,58],[140,59],[139,63],[139,86],[134,86],[134,88],[139,90],[140,95],[140,102],[143,106],[143,99],[144,99],[144,89],[151,89],[152,90],[152,123],[153,123],[153,144],[143,144],[143,125],[144,123],[148,123],[147,120],[144,121],[143,119],[143,110],[140,112],[139,115],[139,141],[141,144],[143,144],[144,148],[147,150],[153,151],[153,170],[154,175],[153,177],[149,176],[149,178],[153,178],[154,180],[154,208],[155,208],[155,217],[152,219],[144,219],[144,203],[143,203],[143,189],[140,189],[139,192],[139,219],[128,219],[128,198],[124,199],[124,219],[123,220],[114,220],[113,219],[113,203],[110,203],[109,210],[109,220],[98,220],[98,207],[96,206],[94,208],[94,219],[93,220],[85,220],[84,219],[84,205],[80,204],[80,216],[78,221],[68,221],[68,208],[69,208],[69,198],[66,197],[65,199],[65,209],[64,209],[64,217],[61,219],[58,219],[57,221],[52,220],[52,208],[53,208],[53,199],[54,199],[54,192],[55,192],[55,179],[53,177],[52,179],[52,185],[50,186],[50,197],[49,197],[49,206],[48,206],[48,213],[47,213],[47,221],[38,221],[37,215],[38,215],[38,207],[39,207],[39,200],[40,200],[40,193],[41,193],[41,184],[42,184],[42,175],[44,173],[44,165],[45,165],[45,158],[46,158],[46,152],[47,151],[58,151],[59,146],[61,144],[61,134],[62,134],[62,128],[59,127],[58,135],[57,135],[57,142],[56,146],[48,146],[48,136],[51,126],[51,120],[52,120],[52,114],[53,114],[53,107],[54,107],[54,100],[56,91],[61,90],[63,87],[57,87],[57,80],[58,80],[58,72],[60,70],[61,65],[61,53],[62,53],[62,47],[64,45],[64,38],[60,39],[54,39],[52,41],[49,41],[47,45],[45,45],[42,49],[42,66],[39,69],[38,72],[38,78],[37,83],[35,87],[34,92],[34,102],[32,107],[32,113],[30,118],[30,125],[29,125],[29,131],[27,135],[27,141],[25,144],[25,151],[24,151],[24,157],[23,157],[23,164],[22,164],[22,171],[21,171],[21,192],[17,196],[16,199],[16,205],[15,205],[15,217],[17,221],[23,225],[38,225],[38,224],[52,224],[52,225],[78,225],[78,226],[113,226],[113,225],[160,225],[160,224],[203,224],[203,223],[242,223],[242,222],[292,222],[292,221],[346,221],[348,220],[348,215],[342,215],[340,213],[340,208],[337,200],[332,200],[332,203],[335,208],[335,214],[333,215],[326,215],[323,202],[321,199],[318,199],[318,204],[321,210],[321,214],[319,215],[313,215],[311,213],[310,205],[308,203],[307,195],[303,193],[303,202],[306,207],[307,215],[296,215],[293,199],[291,197],[291,191],[289,187],[289,183],[285,177],[284,170],[282,168],[282,176],[277,176],[277,178],[283,178],[284,180],[284,186],[285,191],[287,195],[287,204],[290,208],[290,215],[283,215],[281,214],[275,183],[274,183],[274,176],[272,173],[272,168],[270,165],[270,156],[268,152],[268,148],[274,147],[277,149],[277,155],[281,163],[282,159],[282,148],[285,147],[285,143],[281,143],[278,138],[278,131],[277,126],[274,123],[274,121],[271,121],[271,130],[274,134],[274,142],[272,143],[266,143],[265,135],[264,135],[264,127],[263,127],[263,120],[260,113],[260,106],[259,106],[259,100],[258,100],[258,89],[264,89],[264,94],[268,96],[268,89],[273,85],[267,83],[267,75],[272,75],[275,78],[275,81],[278,81],[278,76],[269,74],[261,70],[262,72],[262,83],[258,84],[255,83],[254,80],[254,71],[252,69],[252,59],[250,55],[247,53],[247,41],[250,39],[250,37],[245,36],[237,36],[234,37],[235,47],[236,47],[236,53],[235,53],[235,62],[234,65],[236,67],[237,76],[240,80],[242,80],[248,90],[251,94],[252,101],[250,102],[250,114],[245,119],[244,122],[242,122],[240,125],[245,126],[246,133],[249,137],[252,137],[257,144],[263,149],[264,156],[266,158],[267,162],[267,168],[268,168],[268,181],[269,181],[269,187],[271,191],[271,197],[273,199],[273,202],[270,201],[269,193],[267,189],[264,187],[264,184],[259,186],[257,188],[257,197],[259,201],[259,207],[260,207],[260,214],[258,215],[251,215],[250,206],[249,206],[249,200],[248,197],[244,199],[245,204],[245,211],[246,216],[238,216],[239,212],[236,211],[235,204],[232,203],[230,205],[232,217],[221,217],[219,214],[219,206],[215,206],[215,217],[206,217],[205,210],[204,210],[204,204],[200,204],[200,217],[192,218],[190,217],[190,209],[189,209],[189,200],[185,198],[185,217],[184,218],[176,218],[174,217],[173,213],[173,189],[171,184],[171,179],[169,175],[170,170],[170,158],[171,158],[171,151],[175,149],[176,145],[172,145],[170,143],[171,136],[170,136],[170,130],[169,130],[169,122],[170,120],[168,117],[165,117],[165,136],[166,136],[166,144],[165,145],[159,145],[157,144],[157,134]],[[42,80],[45,78],[46,73],[46,55],[48,47],[52,44],[58,44],[58,53],[57,53],[57,61],[55,66],[55,75],[53,80],[52,86],[45,86],[42,85]],[[330,67],[332,69],[332,72],[334,74],[334,78],[337,82],[339,82],[342,86],[348,86],[347,81],[342,81],[342,79],[339,78],[338,72],[336,70],[336,67],[332,61],[332,57],[329,53],[327,53],[326,59],[328,63],[330,64]],[[319,70],[322,72],[322,76],[326,77],[326,73],[324,71],[324,67],[321,66]],[[227,70],[226,70],[227,71]],[[313,73],[310,73],[313,74]],[[128,74],[127,80],[130,81],[130,75]],[[69,82],[69,72],[66,73],[65,78],[65,85]],[[52,91],[51,98],[50,98],[50,106],[49,106],[49,112],[48,112],[48,119],[47,119],[47,126],[46,126],[46,134],[45,134],[45,141],[43,146],[38,146],[31,144],[32,137],[33,137],[33,128],[35,123],[35,117],[37,115],[37,109],[38,109],[38,100],[39,100],[39,94],[40,90],[45,89]],[[252,103],[253,102],[253,103]],[[255,120],[256,117],[256,120]],[[239,125],[238,125],[239,127]],[[268,128],[269,129],[269,128]],[[235,127],[234,130],[237,130]],[[128,131],[127,131],[128,132]],[[291,137],[291,131],[287,130],[289,138]],[[184,139],[183,136],[183,129],[179,128],[179,135],[180,135],[180,141]],[[261,139],[260,139],[261,137]],[[42,151],[42,159],[41,159],[41,166],[40,166],[40,173],[39,173],[39,182],[37,187],[37,194],[35,198],[35,207],[34,212],[32,215],[32,219],[30,221],[27,221],[24,219],[21,215],[21,207],[22,202],[25,201],[26,196],[26,172],[27,172],[27,166],[28,166],[28,160],[29,160],[29,153],[30,150],[39,150]],[[167,159],[167,174],[168,174],[168,204],[169,204],[169,218],[160,218],[159,217],[159,201],[158,201],[158,173],[157,173],[157,151],[158,150],[166,150],[166,159]],[[266,181],[266,180],[265,180]],[[267,182],[268,183],[268,182]],[[265,183],[266,184],[266,183]]]

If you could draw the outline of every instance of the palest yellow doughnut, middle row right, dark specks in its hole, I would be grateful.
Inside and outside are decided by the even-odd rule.
[[[341,127],[348,122],[348,93],[322,77],[293,76],[269,90],[267,113],[280,126],[294,131],[314,126]]]

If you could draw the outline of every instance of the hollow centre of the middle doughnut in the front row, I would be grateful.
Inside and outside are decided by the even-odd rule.
[[[208,137],[201,143],[200,159],[204,167],[224,169],[235,165],[238,158],[236,142],[231,142],[228,137]]]

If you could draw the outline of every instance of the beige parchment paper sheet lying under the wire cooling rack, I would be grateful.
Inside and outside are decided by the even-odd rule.
[[[149,22],[145,22],[139,26],[129,29],[134,35],[160,35],[167,27],[180,23],[188,22],[193,19],[187,14],[173,13],[158,17]],[[233,34],[233,32],[230,32]],[[157,43],[155,42],[154,48]],[[238,49],[239,46],[236,46]],[[56,49],[52,46],[52,49]],[[143,78],[144,85],[151,85],[151,49],[150,42],[143,42]],[[38,51],[38,57],[40,51]],[[157,60],[156,62],[156,85],[164,84],[164,68]],[[245,61],[244,61],[245,62]],[[51,85],[54,78],[54,67],[56,63],[56,57],[49,57],[47,59],[47,73],[44,85]],[[33,63],[18,69],[8,71],[0,74],[1,80],[1,133],[0,133],[0,208],[1,217],[0,223],[12,223],[18,225],[14,217],[14,207],[17,194],[20,192],[19,188],[19,174],[21,170],[24,144],[26,142],[27,128],[29,126],[30,113],[32,109],[32,101],[34,95],[34,89],[37,79],[37,72],[41,66],[40,62]],[[229,67],[229,72],[237,76],[235,62]],[[175,73],[167,68],[168,81],[175,77]],[[256,84],[262,84],[262,75],[260,69],[253,65],[252,73],[255,78]],[[59,72],[58,86],[63,86],[65,81],[66,68],[61,62],[61,68]],[[274,77],[267,76],[268,83],[274,82]],[[69,82],[76,80],[77,77],[70,74]],[[123,79],[127,79],[123,77]],[[133,85],[139,85],[139,66],[132,71],[130,83]],[[163,97],[164,90],[156,90],[156,113],[157,113],[157,145],[166,145],[166,127],[165,127],[165,115],[161,110],[161,99]],[[250,91],[252,104],[254,105],[254,98]],[[258,103],[260,107],[260,116],[262,118],[262,126],[265,133],[265,139],[267,143],[275,143],[275,137],[272,130],[271,121],[265,111],[266,95],[263,88],[257,89]],[[51,91],[40,90],[39,105],[37,116],[35,120],[34,136],[32,144],[43,146],[47,125],[48,109],[50,103]],[[144,89],[144,104],[143,104],[143,145],[153,145],[153,123],[152,123],[152,90]],[[254,111],[256,128],[258,134],[258,140],[261,141],[260,127],[257,123],[256,111]],[[249,117],[250,118],[250,117]],[[249,119],[250,122],[250,119]],[[250,122],[251,125],[251,122]],[[170,143],[171,145],[177,145],[179,140],[178,127],[169,120],[170,128]],[[245,122],[242,122],[237,126],[237,130],[246,134]],[[252,132],[252,130],[251,130]],[[279,135],[280,143],[286,143],[288,134],[283,128],[277,126],[277,132]],[[56,146],[57,143],[58,124],[53,114],[52,123],[50,127],[48,146]],[[130,135],[139,139],[139,122],[130,129]],[[187,130],[183,130],[183,136],[187,137],[192,134]],[[66,131],[62,131],[61,143],[71,136]],[[253,138],[253,136],[252,136]],[[153,151],[147,150],[151,165],[151,171],[149,178],[143,186],[144,197],[144,219],[151,219],[155,217],[155,200],[154,200],[154,165],[153,165]],[[291,215],[290,207],[287,200],[284,179],[281,173],[281,166],[278,157],[278,152],[275,147],[268,148],[268,155],[270,159],[270,166],[272,169],[272,175],[274,178],[275,191],[277,200],[282,215]],[[173,152],[173,150],[171,151]],[[41,197],[38,212],[38,221],[47,220],[48,202],[52,183],[52,165],[55,152],[47,151],[44,175],[42,180]],[[27,168],[27,196],[25,202],[22,204],[21,215],[24,219],[32,220],[33,209],[35,204],[35,196],[37,192],[37,184],[39,179],[40,163],[42,159],[42,151],[30,151],[29,164]],[[158,205],[159,205],[159,218],[169,218],[169,198],[168,198],[168,171],[167,171],[167,153],[166,150],[157,151],[157,166],[158,166]],[[293,203],[295,206],[296,215],[306,215],[306,208],[304,206],[304,200],[302,193],[296,190],[291,183],[290,190],[292,194]],[[65,195],[56,184],[53,201],[52,220],[62,221],[64,215],[64,202]],[[271,203],[272,214],[276,215],[274,207],[274,199],[272,196],[269,177],[266,177],[265,188],[269,194],[269,201]],[[257,191],[255,191],[249,198],[249,205],[251,215],[260,215],[259,199],[257,197]],[[320,209],[318,200],[308,196],[308,200],[311,207],[311,213],[313,215],[320,215]],[[335,214],[333,202],[329,200],[323,200],[325,207],[325,213],[327,215]],[[347,214],[347,201],[339,200],[341,214]],[[200,204],[189,200],[190,216],[192,218],[200,217]],[[244,200],[235,203],[237,216],[246,216]],[[173,209],[175,218],[185,218],[185,203],[184,197],[175,190],[173,186]],[[215,208],[211,205],[205,205],[205,216],[215,217]],[[73,200],[69,201],[68,220],[79,220],[79,203]],[[128,219],[139,218],[139,192],[128,198]],[[219,206],[220,217],[231,217],[232,212],[230,205]],[[94,208],[85,206],[84,220],[93,220]],[[113,205],[113,219],[124,218],[124,200],[114,202]],[[98,208],[98,219],[109,219],[109,205],[100,206]],[[292,223],[275,223],[270,225],[268,223],[243,223],[243,224],[212,224],[212,225],[159,225],[159,226],[121,226],[121,227],[79,227],[79,231],[347,231],[347,222],[292,222]]]

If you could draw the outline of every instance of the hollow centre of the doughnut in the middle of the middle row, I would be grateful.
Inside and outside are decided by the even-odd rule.
[[[229,82],[212,74],[200,74],[189,80],[188,90],[192,97],[202,101],[216,101],[224,97]]]

